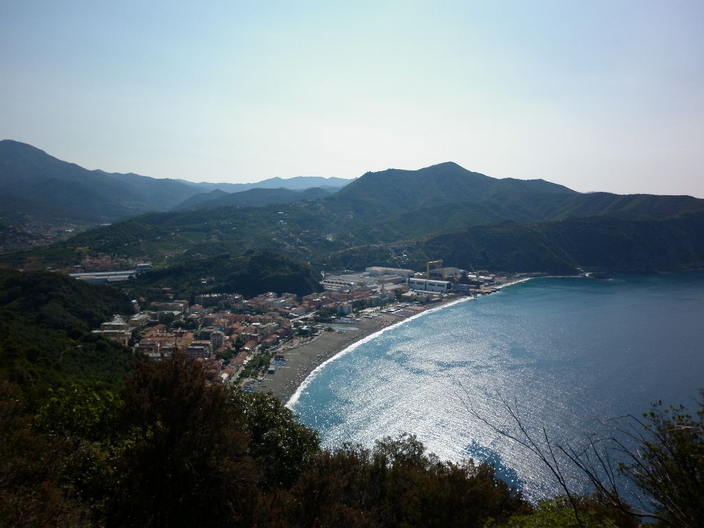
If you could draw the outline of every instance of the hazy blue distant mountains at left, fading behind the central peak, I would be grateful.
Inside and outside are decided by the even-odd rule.
[[[151,211],[180,208],[180,203],[213,191],[232,194],[250,189],[338,189],[348,182],[323,177],[289,180],[275,177],[249,184],[158,179],[134,173],[87,170],[49,156],[34,146],[9,139],[0,141],[0,215],[10,223],[21,223],[23,218],[58,223],[114,222]],[[282,199],[290,201],[291,197],[265,191],[258,196],[256,205]]]

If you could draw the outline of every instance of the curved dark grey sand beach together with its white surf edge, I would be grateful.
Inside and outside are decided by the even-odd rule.
[[[517,280],[498,284],[492,287],[492,291],[485,291],[484,294],[491,294],[504,287],[525,282],[533,277],[524,277]],[[379,313],[376,318],[357,320],[346,329],[337,326],[337,330],[323,332],[310,341],[305,341],[295,346],[287,346],[282,353],[287,360],[286,365],[277,367],[274,374],[265,375],[263,382],[256,385],[256,391],[268,392],[276,396],[279,401],[289,407],[298,400],[301,392],[308,385],[310,375],[322,368],[325,363],[341,356],[342,353],[356,348],[361,341],[373,339],[376,334],[385,332],[386,329],[401,325],[410,319],[420,317],[425,313],[446,308],[456,303],[472,301],[477,296],[462,296],[446,298],[439,303],[432,303],[425,306],[415,306],[409,308],[406,315],[394,315],[390,313]]]

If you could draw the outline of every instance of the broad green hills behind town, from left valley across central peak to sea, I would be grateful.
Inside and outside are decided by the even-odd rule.
[[[237,196],[218,195],[217,200]],[[543,271],[567,270],[593,262],[605,268],[675,269],[700,261],[696,251],[700,213],[704,200],[692,196],[582,194],[544,180],[498,180],[455,163],[441,163],[420,170],[369,172],[322,199],[142,215],[78,234],[51,249],[4,260],[20,266],[23,258],[32,256],[64,268],[88,252],[148,259],[161,267],[267,249],[314,265],[346,263],[353,268],[420,266],[425,258],[443,258],[460,267],[481,260],[488,263],[485,267],[498,265],[505,271],[539,270],[543,265],[549,265]],[[667,226],[677,224],[674,219],[691,233],[691,241],[681,242],[677,236],[648,239],[643,234],[646,225],[655,232],[669,232]],[[507,228],[503,225],[507,220],[522,227]],[[584,244],[598,247],[604,240],[600,222],[608,223],[610,236],[620,234],[624,244],[619,249],[631,251],[618,252],[618,258],[596,258],[596,253],[583,251]],[[665,224],[660,228],[658,222]],[[463,237],[469,235],[458,236],[467,230],[472,234],[468,245]],[[517,236],[515,244],[531,240],[530,251],[509,244],[509,235],[519,232],[527,238]],[[413,248],[415,260],[391,259],[384,248],[398,244]],[[482,258],[461,254],[474,245],[480,246]]]

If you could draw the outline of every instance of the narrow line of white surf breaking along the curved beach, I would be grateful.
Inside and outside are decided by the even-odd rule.
[[[524,277],[521,279],[505,282],[504,284],[499,284],[498,286],[496,286],[494,288],[495,289],[503,289],[508,286],[513,286],[513,284],[520,284],[521,282],[526,282],[532,278],[535,278],[535,277]],[[307,369],[308,372],[306,373],[306,375],[303,375],[303,377],[301,377],[300,381],[295,386],[294,391],[292,393],[290,391],[278,391],[279,394],[277,394],[277,396],[280,399],[282,399],[283,401],[286,401],[285,406],[287,408],[292,408],[292,406],[294,406],[296,404],[296,402],[298,401],[298,398],[301,397],[301,394],[303,393],[303,391],[306,390],[308,385],[310,385],[310,383],[313,382],[313,379],[315,379],[315,377],[317,377],[320,374],[320,372],[322,372],[322,370],[325,368],[327,363],[330,363],[330,362],[336,360],[337,358],[341,358],[346,353],[351,352],[354,349],[356,349],[358,346],[360,346],[364,343],[367,343],[367,342],[371,341],[372,339],[375,339],[376,337],[383,334],[387,330],[393,329],[399,325],[403,325],[403,323],[405,323],[407,321],[415,320],[417,318],[420,318],[422,315],[434,313],[438,310],[442,310],[444,308],[447,308],[448,306],[454,306],[455,304],[458,304],[458,303],[463,303],[463,302],[467,302],[467,301],[474,301],[476,299],[477,299],[477,297],[463,297],[463,298],[453,299],[452,301],[447,301],[447,302],[441,303],[439,306],[433,306],[432,308],[427,308],[426,310],[422,310],[421,312],[419,312],[417,314],[411,315],[409,318],[405,318],[405,319],[401,319],[401,320],[392,322],[390,325],[384,326],[380,329],[375,329],[373,332],[369,332],[367,330],[367,332],[363,332],[362,334],[360,334],[357,337],[357,339],[354,339],[353,342],[346,344],[342,348],[333,349],[331,351],[327,351],[325,353],[321,353],[318,356],[315,356],[315,358],[313,358],[311,360],[311,363],[313,363],[313,365],[311,365],[311,367]],[[288,394],[286,394],[286,393],[288,393]]]

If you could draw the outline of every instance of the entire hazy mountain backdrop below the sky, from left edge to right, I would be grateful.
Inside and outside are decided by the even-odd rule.
[[[339,190],[227,193],[216,184],[87,171],[34,147],[2,142],[0,170],[5,215],[20,206],[46,215],[75,206],[86,219],[132,216],[32,253],[45,265],[75,263],[78,249],[156,265],[262,249],[322,269],[420,268],[436,258],[464,269],[516,272],[704,265],[702,199],[583,194],[545,180],[498,180],[452,162],[367,172]],[[320,184],[292,180],[298,187]],[[256,185],[282,182],[289,180]],[[198,192],[199,185],[210,187]],[[137,215],[149,207],[171,211]],[[21,256],[13,258],[18,265]]]

